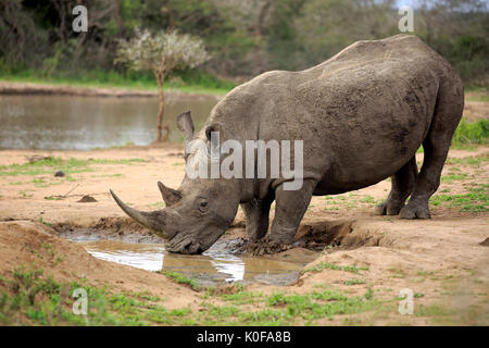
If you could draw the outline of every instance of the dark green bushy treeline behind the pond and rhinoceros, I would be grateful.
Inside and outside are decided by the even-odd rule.
[[[465,83],[487,86],[486,1],[415,3],[414,34],[450,60]],[[88,9],[87,33],[72,29],[76,4]],[[239,78],[300,70],[356,40],[399,34],[398,7],[394,0],[0,0],[0,73],[125,74],[113,63],[115,47],[136,27],[203,38],[213,59],[198,74]]]

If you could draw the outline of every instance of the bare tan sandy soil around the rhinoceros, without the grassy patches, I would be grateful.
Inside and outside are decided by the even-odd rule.
[[[158,209],[161,196],[156,182],[178,187],[185,171],[181,154],[183,147],[177,145],[93,151],[1,150],[0,169],[9,166],[3,171],[12,171],[12,164],[45,157],[112,162],[91,163],[89,171],[74,171],[67,177],[54,177],[55,167],[41,174],[0,175],[0,275],[8,277],[15,266],[37,262],[60,279],[86,277],[90,284],[105,284],[114,291],[155,294],[164,298],[167,308],[199,308],[199,294],[188,287],[162,274],[97,260],[79,245],[59,238],[50,227],[95,227],[101,233],[108,229],[113,234],[148,236],[148,232],[125,217],[109,188],[134,208]],[[464,195],[486,185],[481,187],[487,197],[488,157],[487,147],[451,151],[438,194]],[[122,162],[128,159],[138,161]],[[422,160],[419,153],[418,161]],[[297,237],[312,240],[328,236],[331,246],[323,252],[296,248],[274,258],[312,260],[305,270],[319,265],[319,271],[304,272],[297,284],[285,288],[255,284],[249,290],[306,294],[327,285],[352,295],[371,288],[377,297],[392,299],[401,289],[410,288],[418,295],[414,299],[418,315],[401,315],[396,304],[349,318],[347,322],[335,319],[316,324],[489,324],[489,249],[481,245],[489,237],[487,198],[478,202],[486,207],[482,211],[472,206],[465,211],[461,206],[431,206],[429,221],[373,215],[375,203],[386,198],[389,189],[390,183],[384,181],[354,192],[314,197]],[[78,202],[85,195],[97,201]],[[53,197],[62,199],[52,200]],[[241,212],[235,223],[242,226]],[[237,235],[242,235],[242,229],[237,231]],[[233,233],[226,237],[233,237]],[[42,249],[46,243],[62,256],[61,262],[52,262],[49,257],[39,260],[33,254],[30,250]],[[322,269],[324,263],[367,270],[351,274]],[[362,278],[363,283],[346,285],[352,278]],[[440,314],[434,308],[450,314]]]

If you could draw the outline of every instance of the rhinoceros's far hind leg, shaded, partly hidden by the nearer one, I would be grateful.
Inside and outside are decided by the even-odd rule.
[[[406,198],[411,195],[416,184],[417,165],[416,157],[413,157],[403,167],[391,176],[391,189],[386,201],[375,207],[376,215],[397,215],[404,207]]]

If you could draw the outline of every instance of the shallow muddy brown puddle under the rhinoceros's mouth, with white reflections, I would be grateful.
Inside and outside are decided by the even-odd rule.
[[[147,271],[171,271],[195,277],[201,285],[215,283],[265,283],[289,285],[299,277],[303,264],[258,257],[233,254],[233,240],[217,241],[203,254],[186,256],[165,251],[163,245],[122,240],[87,240],[80,243],[93,257]]]

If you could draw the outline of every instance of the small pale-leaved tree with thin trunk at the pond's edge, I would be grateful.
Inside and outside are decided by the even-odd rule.
[[[210,59],[201,39],[175,32],[151,34],[137,30],[129,41],[120,40],[116,62],[125,63],[134,71],[150,71],[156,77],[160,111],[158,113],[158,138],[162,141],[164,114],[163,82],[175,69],[193,69]],[[168,134],[166,132],[165,140]]]

